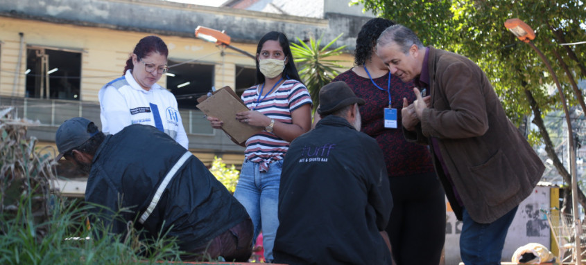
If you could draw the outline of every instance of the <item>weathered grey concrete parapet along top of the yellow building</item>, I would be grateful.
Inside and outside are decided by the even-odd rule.
[[[225,30],[234,42],[256,44],[270,30],[279,30],[291,39],[324,36],[333,39],[347,33],[347,21],[360,26],[370,17],[361,9],[325,1],[327,13],[351,13],[316,19],[265,12],[196,6],[156,0],[18,0],[0,3],[0,16],[36,19],[62,24],[128,30],[160,35],[193,37],[197,26]],[[356,35],[345,34],[335,46],[354,48]]]

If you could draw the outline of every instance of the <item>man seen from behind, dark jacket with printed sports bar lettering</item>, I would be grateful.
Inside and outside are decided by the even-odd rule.
[[[342,81],[319,96],[322,119],[283,162],[275,263],[391,264],[393,199],[381,149],[360,132],[364,100]]]

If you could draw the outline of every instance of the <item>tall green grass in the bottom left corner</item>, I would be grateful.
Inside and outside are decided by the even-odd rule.
[[[23,203],[31,197],[24,197]],[[128,235],[112,235],[100,223],[88,226],[89,208],[79,201],[55,198],[51,217],[35,223],[26,220],[26,208],[16,218],[0,217],[7,228],[0,235],[0,264],[155,264],[179,260],[173,238],[139,241],[139,231],[129,226]]]

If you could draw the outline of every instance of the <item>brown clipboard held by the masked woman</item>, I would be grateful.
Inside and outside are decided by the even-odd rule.
[[[230,86],[224,86],[210,96],[202,95],[198,98],[198,103],[196,107],[205,115],[222,120],[224,122],[222,130],[239,144],[264,129],[236,120],[236,113],[249,109]]]

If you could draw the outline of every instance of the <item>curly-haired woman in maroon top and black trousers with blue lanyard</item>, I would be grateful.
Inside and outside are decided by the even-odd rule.
[[[403,98],[415,100],[413,83],[391,75],[374,53],[379,35],[393,24],[380,18],[368,21],[356,38],[356,66],[334,81],[346,82],[366,101],[360,107],[361,131],[383,150],[393,194],[386,232],[396,264],[437,265],[445,241],[445,195],[426,147],[408,143],[402,133]]]

